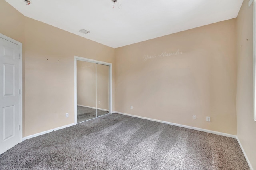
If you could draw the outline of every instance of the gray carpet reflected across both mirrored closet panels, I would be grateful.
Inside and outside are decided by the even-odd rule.
[[[108,111],[97,109],[97,116],[108,114]],[[96,109],[89,107],[77,106],[77,123],[90,120],[96,117]]]

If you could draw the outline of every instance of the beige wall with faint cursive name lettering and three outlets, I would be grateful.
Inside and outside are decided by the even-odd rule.
[[[115,59],[116,111],[236,135],[236,19],[120,47]]]

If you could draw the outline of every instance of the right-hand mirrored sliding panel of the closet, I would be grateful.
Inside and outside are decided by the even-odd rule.
[[[109,66],[97,64],[97,117],[109,113]]]

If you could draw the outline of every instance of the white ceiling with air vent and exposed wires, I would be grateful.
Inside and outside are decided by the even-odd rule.
[[[29,18],[117,48],[236,18],[243,0],[118,0],[120,9],[111,0],[6,2]]]

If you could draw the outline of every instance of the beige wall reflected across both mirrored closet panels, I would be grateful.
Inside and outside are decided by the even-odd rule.
[[[108,69],[109,66],[97,64],[97,107],[106,110],[108,110]],[[95,63],[77,61],[77,104],[96,108]]]

